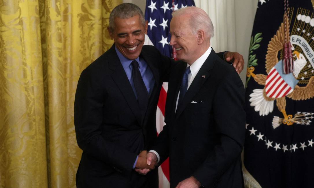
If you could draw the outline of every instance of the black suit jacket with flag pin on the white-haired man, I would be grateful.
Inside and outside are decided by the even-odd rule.
[[[243,83],[212,50],[175,112],[186,66],[180,62],[171,70],[166,125],[152,149],[160,154],[160,162],[170,157],[171,187],[191,175],[204,187],[244,187]]]

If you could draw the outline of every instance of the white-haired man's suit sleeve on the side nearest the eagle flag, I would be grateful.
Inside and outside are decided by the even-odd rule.
[[[218,144],[193,176],[210,187],[241,156],[245,138],[244,87],[235,71],[225,77],[214,97]]]

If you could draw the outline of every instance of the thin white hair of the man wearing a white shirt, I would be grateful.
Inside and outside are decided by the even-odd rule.
[[[190,15],[190,26],[193,34],[197,34],[197,31],[204,29],[205,33],[209,34],[209,38],[214,36],[214,25],[208,14],[201,8],[197,7],[185,7],[176,10],[172,13],[172,17]]]

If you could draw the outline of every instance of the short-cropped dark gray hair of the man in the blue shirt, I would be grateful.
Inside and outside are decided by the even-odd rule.
[[[143,11],[135,4],[133,3],[122,3],[115,8],[110,13],[109,16],[109,29],[113,31],[115,28],[115,18],[122,18],[122,19],[127,19],[127,18],[132,18],[133,16],[138,15],[140,17],[140,20],[143,25],[145,25],[145,18]]]

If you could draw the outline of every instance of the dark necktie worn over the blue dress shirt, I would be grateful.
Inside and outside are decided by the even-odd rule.
[[[144,84],[142,75],[138,69],[138,62],[136,60],[132,61],[132,77],[134,82],[134,87],[138,97],[138,106],[140,110],[145,111],[148,105],[148,92]]]

